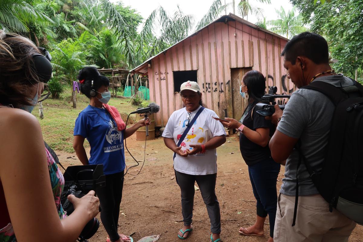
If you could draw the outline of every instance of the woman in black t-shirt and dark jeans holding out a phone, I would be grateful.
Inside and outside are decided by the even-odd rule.
[[[280,172],[280,164],[271,158],[268,147],[270,136],[275,131],[275,126],[254,110],[255,105],[261,102],[265,94],[266,81],[259,71],[248,71],[241,81],[240,93],[248,102],[240,122],[232,118],[221,123],[228,128],[235,128],[240,132],[240,150],[242,157],[248,165],[254,197],[257,200],[257,218],[254,225],[243,228],[238,232],[243,235],[264,236],[266,216],[269,215],[270,238],[273,242],[273,232],[277,209],[276,181]]]

